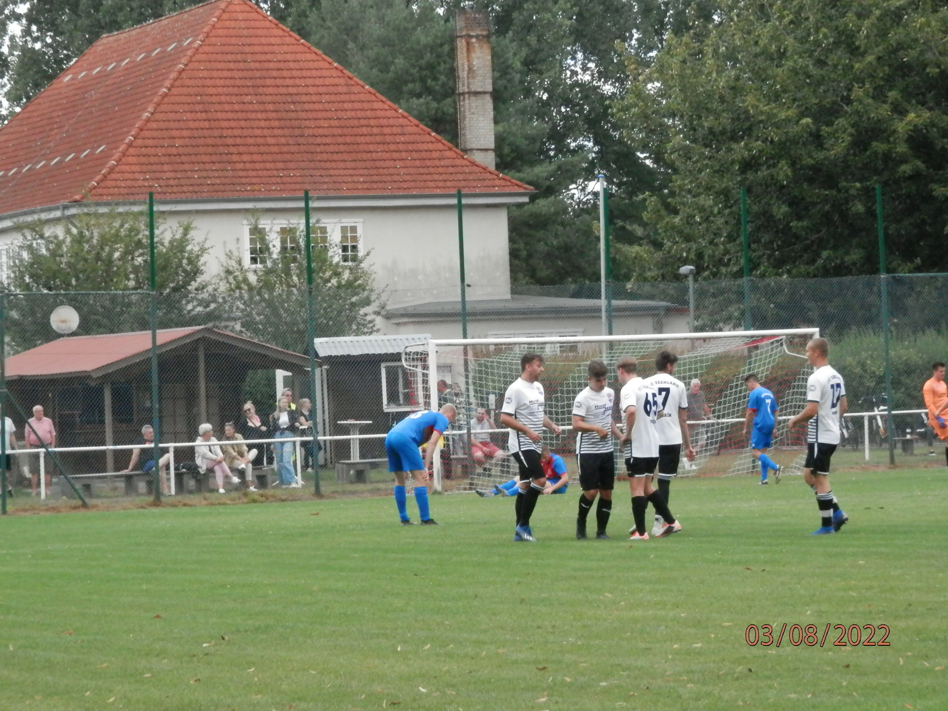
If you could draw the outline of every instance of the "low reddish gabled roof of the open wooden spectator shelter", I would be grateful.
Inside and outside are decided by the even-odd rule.
[[[210,326],[169,328],[157,332],[158,353],[165,353],[197,338],[210,338],[231,350],[265,358],[275,367],[300,371],[309,365],[307,356],[284,351],[250,338],[219,331]],[[152,332],[137,331],[101,336],[70,336],[49,341],[7,358],[7,379],[87,377],[99,378],[151,356]]]

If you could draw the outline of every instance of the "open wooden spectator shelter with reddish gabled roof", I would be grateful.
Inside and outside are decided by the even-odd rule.
[[[202,422],[220,431],[239,417],[251,371],[309,369],[308,356],[210,326],[162,329],[156,340],[162,442],[190,442]],[[152,421],[151,349],[151,331],[59,338],[7,358],[7,388],[27,416],[43,405],[59,447],[132,444]],[[64,461],[76,473],[114,471],[126,464],[119,456],[72,452]]]

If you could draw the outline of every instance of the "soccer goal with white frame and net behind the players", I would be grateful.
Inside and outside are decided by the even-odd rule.
[[[445,433],[440,456],[434,457],[434,488],[437,491],[471,491],[503,483],[517,473],[510,457],[488,460],[485,465],[470,457],[469,423],[477,409],[487,410],[490,439],[506,449],[507,430],[499,425],[503,394],[520,376],[520,356],[538,353],[546,371],[540,377],[546,396],[546,414],[561,428],[555,436],[543,431],[543,443],[566,461],[575,473],[572,431],[573,401],[587,386],[587,364],[603,360],[610,369],[609,387],[616,391],[614,419],[618,411],[619,383],[615,363],[623,356],[639,361],[639,374],[655,373],[655,356],[669,350],[679,356],[675,376],[689,389],[701,381],[710,415],[692,412],[688,418],[692,447],[697,456],[688,463],[682,456],[678,475],[722,476],[757,471],[748,438],[742,434],[747,408],[744,376],[756,373],[761,384],[774,392],[779,404],[774,441],[775,461],[786,473],[800,473],[805,456],[804,430],[788,432],[786,422],[806,405],[807,378],[812,369],[804,356],[807,341],[819,336],[817,328],[772,331],[725,331],[690,334],[599,337],[451,338],[406,346],[402,363],[409,374],[411,401],[418,410],[437,410],[452,402],[458,417]],[[447,392],[438,391],[439,380]],[[616,451],[616,473],[625,464]],[[575,482],[575,476],[571,480]]]

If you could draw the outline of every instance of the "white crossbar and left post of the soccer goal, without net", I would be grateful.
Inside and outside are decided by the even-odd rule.
[[[509,338],[432,338],[428,341],[428,408],[438,410],[438,347],[439,346],[503,346],[503,345],[544,345],[544,344],[568,344],[568,343],[628,343],[630,341],[641,340],[664,340],[666,342],[682,340],[706,340],[717,338],[760,338],[760,337],[785,337],[785,336],[809,336],[811,338],[819,337],[820,330],[817,327],[812,328],[783,328],[772,330],[757,331],[703,331],[700,333],[678,333],[678,334],[636,334],[624,336],[534,336],[534,337],[509,337]],[[402,360],[405,359],[405,351],[409,348],[417,348],[421,343],[411,344],[402,350]],[[408,364],[406,363],[406,366]],[[458,413],[458,422],[463,421],[462,417],[469,416],[469,413]],[[450,430],[448,430],[450,431]],[[432,460],[434,469],[433,484],[435,491],[442,491],[441,462],[438,457]]]

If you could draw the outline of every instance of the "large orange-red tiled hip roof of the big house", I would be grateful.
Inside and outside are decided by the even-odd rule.
[[[247,0],[102,37],[0,129],[0,214],[66,201],[522,192]]]

